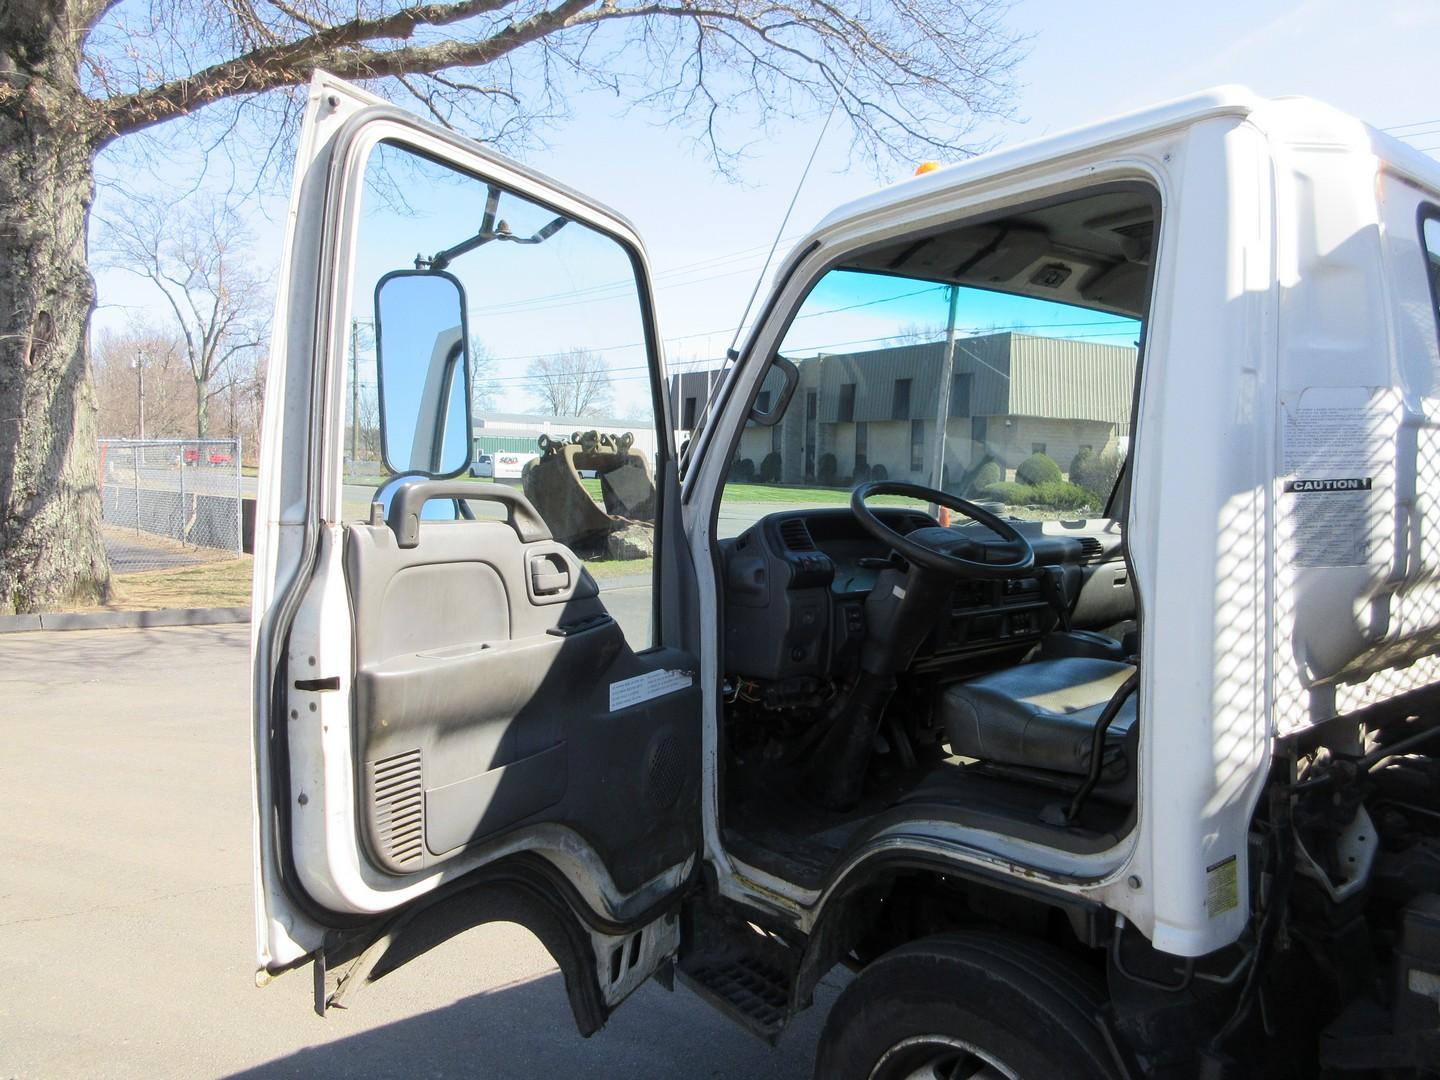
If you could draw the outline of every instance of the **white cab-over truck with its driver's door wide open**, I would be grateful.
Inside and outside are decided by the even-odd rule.
[[[671,373],[624,217],[317,75],[261,979],[508,920],[583,1034],[678,973],[773,1040],[848,965],[827,1079],[1434,1071],[1437,284],[1440,166],[1218,89],[841,207]],[[586,386],[634,435],[468,475]]]

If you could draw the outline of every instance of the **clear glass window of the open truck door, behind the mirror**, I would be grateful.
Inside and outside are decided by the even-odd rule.
[[[461,478],[523,490],[595,576],[631,647],[648,648],[661,432],[629,249],[554,207],[380,143],[367,163],[354,259],[346,518],[367,518],[377,488],[409,468],[384,452],[389,340],[376,364],[376,315],[393,321],[402,305],[377,312],[376,284],[448,275],[464,295],[471,372]],[[426,504],[426,517],[465,508],[495,510],[445,500]]]

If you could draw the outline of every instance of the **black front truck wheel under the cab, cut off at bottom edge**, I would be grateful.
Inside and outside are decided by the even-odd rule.
[[[1002,933],[912,942],[865,968],[831,1008],[815,1080],[1106,1080],[1102,981]]]

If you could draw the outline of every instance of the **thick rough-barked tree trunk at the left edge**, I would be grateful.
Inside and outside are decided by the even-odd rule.
[[[86,353],[95,144],[63,7],[0,3],[0,612],[109,588]]]

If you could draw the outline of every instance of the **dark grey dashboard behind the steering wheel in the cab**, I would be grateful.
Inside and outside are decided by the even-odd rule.
[[[874,507],[897,533],[933,527],[917,510]],[[1077,628],[1133,618],[1135,600],[1119,526],[1096,521],[1015,521],[1035,550],[1035,567],[1058,566]],[[994,539],[976,524],[978,539]],[[847,507],[769,514],[721,541],[726,672],[749,680],[834,678],[857,660],[865,598],[894,554]],[[1058,621],[1040,573],[1002,580],[956,579],[917,667],[948,665],[1001,649],[1028,648]]]

